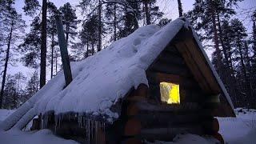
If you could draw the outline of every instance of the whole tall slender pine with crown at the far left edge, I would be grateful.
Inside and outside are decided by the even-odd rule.
[[[13,2],[9,2],[6,5],[6,13],[3,15],[3,24],[5,26],[6,34],[8,34],[5,38],[6,41],[6,57],[5,57],[5,65],[2,75],[2,86],[1,86],[1,93],[0,93],[0,108],[2,108],[2,97],[4,94],[4,88],[6,83],[6,74],[7,74],[7,67],[10,59],[10,52],[13,43],[20,38],[19,34],[24,33],[25,21],[22,20],[22,15],[18,14],[17,11],[13,7]]]

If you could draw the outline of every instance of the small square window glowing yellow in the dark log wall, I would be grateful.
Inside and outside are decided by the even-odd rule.
[[[161,101],[172,103],[180,103],[179,85],[169,82],[160,82]]]

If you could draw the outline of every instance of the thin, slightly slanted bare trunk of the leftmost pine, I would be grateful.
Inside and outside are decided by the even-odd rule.
[[[11,22],[10,34],[9,34],[7,50],[6,50],[6,62],[5,62],[5,67],[2,75],[2,86],[1,86],[1,93],[0,93],[0,109],[2,109],[2,97],[3,97],[5,84],[6,84],[6,71],[7,71],[7,66],[8,66],[9,56],[10,56],[10,42],[13,34],[13,26],[14,26],[14,22]]]

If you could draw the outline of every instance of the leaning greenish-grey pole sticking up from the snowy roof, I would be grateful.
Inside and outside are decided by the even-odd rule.
[[[72,82],[70,58],[67,52],[66,40],[65,40],[65,35],[64,35],[63,25],[62,25],[62,18],[60,15],[56,14],[55,19],[56,19],[56,25],[57,25],[57,31],[58,31],[58,45],[61,49],[62,66],[64,70],[66,86],[68,86],[70,82]]]

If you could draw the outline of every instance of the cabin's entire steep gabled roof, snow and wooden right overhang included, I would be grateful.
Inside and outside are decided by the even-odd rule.
[[[188,66],[194,71],[203,90],[208,90],[210,94],[222,93],[222,111],[218,111],[218,115],[234,116],[230,96],[201,42],[186,19],[178,18],[162,29],[154,25],[143,26],[82,62],[71,63],[74,80],[70,85],[65,87],[64,74],[59,72],[6,118],[4,129],[10,129],[15,123],[17,127],[22,126],[34,115],[51,110],[55,114],[78,112],[102,115],[111,122],[113,118],[118,118],[118,114],[110,107],[132,87],[137,88],[141,83],[148,85],[145,71],[170,42],[174,42],[182,54],[191,57],[184,58],[186,62],[193,60]]]

